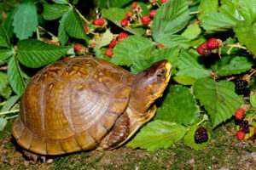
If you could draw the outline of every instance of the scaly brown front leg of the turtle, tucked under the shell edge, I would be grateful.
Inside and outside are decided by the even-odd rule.
[[[124,141],[130,132],[130,119],[126,112],[118,117],[108,135],[102,139],[98,149],[111,150]]]

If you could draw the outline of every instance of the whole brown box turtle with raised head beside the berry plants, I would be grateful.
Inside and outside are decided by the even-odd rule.
[[[171,69],[167,60],[137,75],[91,56],[56,61],[27,85],[12,134],[39,155],[116,148],[154,116]]]

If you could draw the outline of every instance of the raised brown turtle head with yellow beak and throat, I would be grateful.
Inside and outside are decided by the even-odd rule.
[[[131,106],[137,112],[147,111],[154,100],[162,96],[170,80],[171,71],[170,62],[160,60],[136,75],[131,89]]]

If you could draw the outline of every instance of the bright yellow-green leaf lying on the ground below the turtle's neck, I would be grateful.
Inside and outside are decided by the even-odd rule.
[[[132,148],[156,150],[168,148],[186,133],[186,127],[175,122],[156,120],[149,122],[127,145]]]

